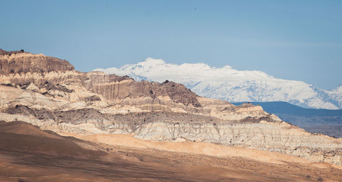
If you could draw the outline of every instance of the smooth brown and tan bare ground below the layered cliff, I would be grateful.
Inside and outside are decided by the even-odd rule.
[[[235,149],[231,152],[241,155],[213,156],[222,150],[214,145],[212,155],[203,150],[166,151],[174,144],[146,146],[136,140],[143,147],[134,147],[128,139],[99,144],[41,131],[25,122],[1,122],[0,181],[342,181],[341,168],[330,164],[295,162],[293,157],[282,161],[279,154],[267,161],[258,153],[270,153],[246,157],[248,153]],[[186,149],[196,144],[181,145]]]

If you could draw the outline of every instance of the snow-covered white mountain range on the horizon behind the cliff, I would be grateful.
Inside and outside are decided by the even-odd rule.
[[[148,57],[144,62],[127,64],[120,68],[96,68],[94,71],[128,75],[137,81],[165,80],[183,83],[200,96],[224,99],[230,102],[286,101],[309,108],[341,109],[342,86],[323,90],[303,81],[274,78],[257,70],[235,70],[198,64],[167,64]]]

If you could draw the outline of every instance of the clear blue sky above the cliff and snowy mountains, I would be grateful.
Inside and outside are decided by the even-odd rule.
[[[1,1],[0,48],[77,70],[146,57],[342,84],[342,1]]]

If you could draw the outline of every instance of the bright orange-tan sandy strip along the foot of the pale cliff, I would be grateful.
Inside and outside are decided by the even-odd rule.
[[[211,144],[207,142],[153,142],[149,140],[140,140],[131,135],[119,134],[96,134],[96,135],[77,135],[71,133],[76,138],[98,142],[104,144],[114,144],[119,146],[129,146],[136,148],[153,148],[161,151],[172,151],[180,153],[192,153],[200,155],[210,155],[215,157],[242,157],[245,159],[253,159],[256,161],[267,162],[272,164],[284,164],[287,162],[296,162],[300,164],[313,164],[321,168],[333,166],[342,169],[341,166],[326,163],[311,163],[310,161],[284,155],[281,153],[272,153],[254,148],[239,148],[232,146],[222,146],[219,144]]]

